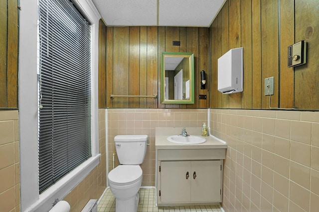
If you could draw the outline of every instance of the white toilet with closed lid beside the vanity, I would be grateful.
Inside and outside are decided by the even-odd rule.
[[[148,136],[122,135],[114,138],[120,164],[108,174],[109,186],[116,199],[116,212],[137,212],[142,185],[142,168]]]

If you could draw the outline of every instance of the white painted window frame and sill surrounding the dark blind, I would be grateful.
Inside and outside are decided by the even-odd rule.
[[[57,0],[54,0],[57,1]],[[84,160],[79,166],[69,171],[60,180],[55,182],[52,186],[44,189],[40,194],[39,189],[39,91],[40,81],[39,70],[39,43],[38,36],[38,1],[37,0],[20,0],[20,7],[23,8],[19,11],[19,137],[16,137],[19,141],[19,161],[20,161],[20,209],[21,212],[44,212],[49,211],[52,207],[52,202],[55,199],[63,199],[78,183],[80,183],[92,170],[99,164],[101,154],[99,153],[99,130],[98,130],[98,30],[99,19],[101,18],[97,9],[91,1],[87,0],[72,0],[79,11],[86,17],[90,23],[90,61],[89,67],[91,70],[90,83],[91,92],[89,99],[87,99],[88,105],[90,105],[89,117],[90,130],[87,130],[90,134],[90,145],[92,156]],[[62,1],[59,2],[69,2]],[[55,2],[54,2],[55,3]],[[64,5],[64,4],[62,4]],[[52,5],[48,5],[48,7]],[[51,8],[49,8],[51,9]],[[65,6],[63,6],[65,9]],[[65,12],[64,12],[65,13]],[[62,13],[64,15],[64,13]],[[65,16],[62,19],[65,20]],[[48,21],[52,21],[47,16]],[[61,26],[61,30],[71,28],[72,30],[78,30],[74,28],[74,20],[71,18],[71,22],[68,21],[68,25]],[[78,27],[78,26],[76,26]],[[83,28],[80,30],[83,36]],[[71,33],[71,32],[70,32]],[[70,34],[69,33],[69,34]],[[72,31],[72,33],[74,33]],[[49,36],[54,36],[50,34]],[[72,34],[71,36],[74,36]],[[65,37],[67,37],[65,35]],[[52,40],[52,37],[50,38]],[[72,37],[73,41],[76,41],[75,37]],[[43,42],[43,41],[41,41]],[[50,42],[48,42],[50,45]],[[77,44],[78,48],[82,51],[82,44]],[[51,47],[50,47],[51,48]],[[73,51],[73,50],[72,50]],[[75,50],[74,50],[75,51]],[[48,52],[47,56],[52,55],[52,52]],[[73,54],[73,53],[72,53]],[[65,58],[65,57],[64,57]],[[76,60],[83,59],[80,55]],[[69,62],[75,63],[72,59],[68,59]],[[41,64],[42,66],[43,64]],[[64,65],[63,65],[64,66]],[[77,66],[77,65],[75,65]],[[84,69],[81,69],[84,70]],[[42,74],[42,73],[41,73]],[[79,75],[76,75],[79,77]],[[77,81],[82,81],[80,78]],[[43,81],[42,81],[43,82]],[[42,90],[42,92],[44,92]],[[45,109],[45,99],[42,97],[41,104]],[[82,115],[80,115],[82,116]],[[65,119],[63,119],[65,120]],[[72,121],[72,120],[71,120]],[[73,135],[71,135],[74,138]],[[62,157],[63,158],[63,157]],[[59,161],[59,160],[58,160]],[[60,161],[59,161],[60,162]]]

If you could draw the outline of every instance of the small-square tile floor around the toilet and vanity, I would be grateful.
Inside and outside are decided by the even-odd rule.
[[[108,189],[98,205],[98,212],[115,212],[115,198]],[[155,189],[140,189],[140,203],[138,212],[223,212],[217,206],[174,206],[156,207]]]

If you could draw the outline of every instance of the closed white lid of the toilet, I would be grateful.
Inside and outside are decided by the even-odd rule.
[[[139,165],[119,165],[108,174],[114,184],[131,184],[142,178],[142,169]]]

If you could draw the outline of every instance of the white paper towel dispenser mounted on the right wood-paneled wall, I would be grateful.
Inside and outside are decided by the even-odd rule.
[[[218,91],[223,94],[243,91],[243,48],[231,49],[218,58]]]

